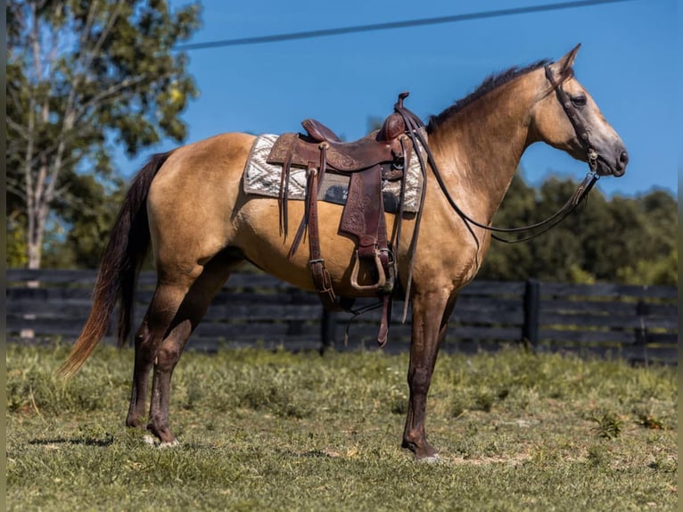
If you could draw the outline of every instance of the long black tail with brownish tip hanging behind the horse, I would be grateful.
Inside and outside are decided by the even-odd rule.
[[[128,189],[103,253],[90,315],[69,358],[60,368],[60,373],[64,376],[72,376],[86,362],[95,345],[106,334],[111,315],[119,301],[119,346],[126,343],[130,333],[136,278],[150,245],[147,194],[152,179],[170,153],[172,152],[152,156]]]

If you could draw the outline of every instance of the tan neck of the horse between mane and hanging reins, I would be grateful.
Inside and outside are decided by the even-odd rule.
[[[468,202],[465,212],[481,222],[498,211],[528,145],[534,95],[520,82],[465,106],[430,135],[450,194]]]

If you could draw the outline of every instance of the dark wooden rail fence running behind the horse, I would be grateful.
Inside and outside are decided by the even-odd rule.
[[[95,283],[93,270],[9,270],[7,330],[11,339],[78,336]],[[135,318],[152,297],[155,276],[138,280]],[[368,301],[359,301],[358,306]],[[397,308],[398,309],[398,308]],[[391,323],[389,351],[407,350],[409,320]],[[409,318],[409,315],[408,315]],[[344,343],[348,329],[348,343]],[[259,343],[292,350],[373,348],[379,311],[351,319],[326,313],[315,293],[275,277],[235,273],[212,301],[189,347],[215,351]],[[108,340],[113,337],[113,322]],[[525,343],[538,351],[612,354],[634,362],[678,359],[678,288],[474,281],[450,318],[442,350],[495,350]]]

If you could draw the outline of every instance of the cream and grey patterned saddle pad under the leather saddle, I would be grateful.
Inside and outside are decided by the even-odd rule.
[[[276,142],[277,135],[260,135],[251,146],[249,160],[244,167],[243,186],[246,194],[279,197],[282,166],[267,163],[270,149]],[[418,143],[419,145],[419,143]],[[420,153],[424,161],[426,155],[420,146]],[[323,183],[318,194],[318,201],[345,204],[349,194],[348,176],[325,172]],[[411,154],[406,178],[406,204],[404,211],[415,213],[420,208],[420,198],[423,186],[420,161],[415,152]],[[384,210],[391,213],[399,211],[400,180],[384,181],[382,184],[384,196]],[[306,199],[306,169],[292,165],[288,187],[288,198],[303,201]]]

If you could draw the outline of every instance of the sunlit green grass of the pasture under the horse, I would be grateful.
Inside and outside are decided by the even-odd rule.
[[[132,351],[69,383],[68,347],[7,347],[10,510],[675,510],[676,368],[442,354],[399,448],[407,356],[185,353],[160,449],[123,426]]]

